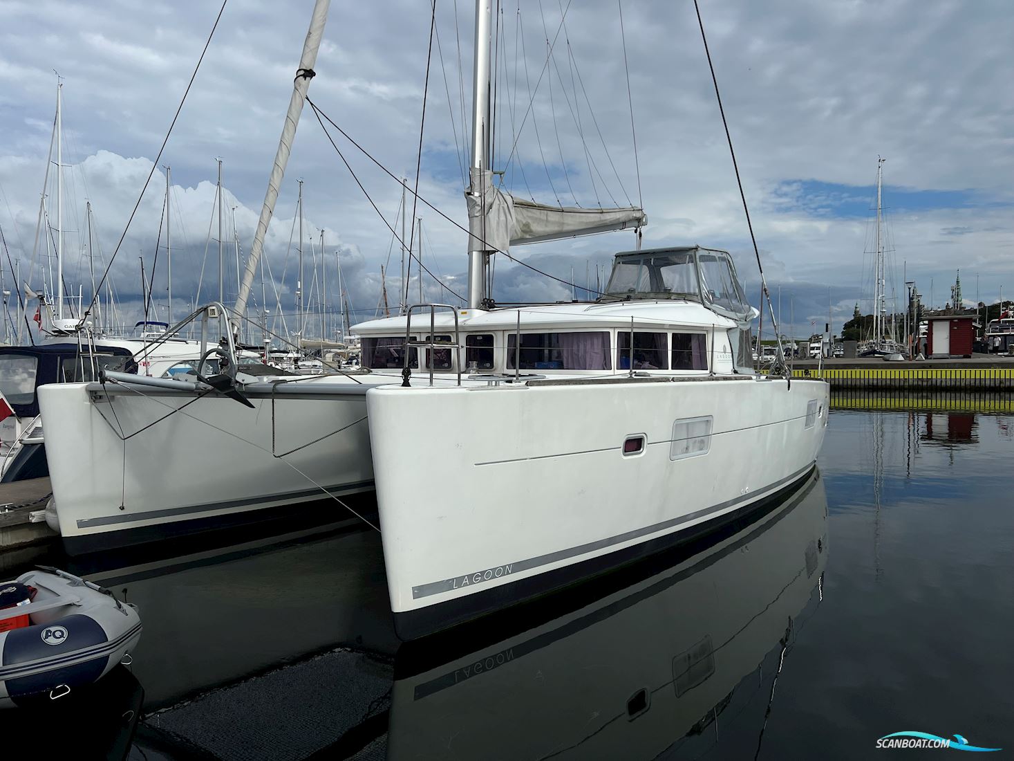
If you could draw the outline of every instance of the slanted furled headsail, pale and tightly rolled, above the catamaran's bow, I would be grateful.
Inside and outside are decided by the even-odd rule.
[[[320,48],[330,5],[331,0],[316,0],[313,5],[313,15],[310,17],[310,26],[306,31],[303,53],[299,59],[299,68],[296,70],[296,78],[292,86],[289,111],[285,115],[285,125],[282,127],[282,136],[278,141],[278,152],[275,153],[275,164],[272,166],[271,177],[268,178],[268,190],[264,196],[264,205],[261,207],[261,217],[258,219],[257,232],[254,234],[254,245],[250,247],[250,255],[246,258],[246,269],[243,272],[243,281],[239,285],[239,293],[236,294],[235,310],[238,315],[242,315],[246,309],[246,300],[249,298],[254,277],[257,274],[257,266],[264,251],[264,238],[268,233],[268,223],[271,221],[272,214],[275,213],[278,189],[282,184],[285,167],[289,162],[289,152],[292,150],[292,140],[296,136],[296,126],[299,124],[299,115],[302,113],[303,101],[306,99],[306,90],[309,89],[310,79],[316,75],[313,67],[316,65],[317,50]]]

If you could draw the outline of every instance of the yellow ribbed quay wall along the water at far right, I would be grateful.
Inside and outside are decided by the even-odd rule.
[[[1014,357],[976,354],[966,359],[924,359],[886,362],[882,359],[797,360],[793,377],[818,377],[831,390],[864,391],[1014,391]]]

